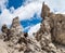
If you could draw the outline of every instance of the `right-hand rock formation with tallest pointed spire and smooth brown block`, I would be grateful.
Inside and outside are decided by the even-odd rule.
[[[63,29],[65,28],[65,16],[50,12],[49,6],[43,3],[41,17],[43,21],[36,34],[36,39],[40,42],[41,49],[46,50],[47,53],[64,53],[60,47],[56,49],[52,42],[65,44],[65,29]]]

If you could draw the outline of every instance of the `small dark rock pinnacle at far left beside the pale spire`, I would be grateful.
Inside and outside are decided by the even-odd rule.
[[[4,24],[1,28],[1,31],[2,31],[2,38],[4,38],[4,40],[9,40],[10,39],[10,29],[8,28],[8,26]]]

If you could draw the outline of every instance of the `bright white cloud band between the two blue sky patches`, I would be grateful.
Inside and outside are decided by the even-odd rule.
[[[28,19],[28,18],[32,17],[36,12],[40,13],[41,5],[42,5],[41,3],[31,2],[29,4],[26,4],[25,6],[18,8],[17,10],[14,10],[14,8],[12,8],[14,10],[13,13],[11,13],[10,10],[4,9],[2,11],[2,13],[0,14],[0,24],[10,25],[12,19],[15,16],[18,16],[20,21]],[[12,9],[11,9],[11,11],[12,11]]]

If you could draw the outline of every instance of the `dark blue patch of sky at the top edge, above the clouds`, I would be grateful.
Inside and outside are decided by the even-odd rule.
[[[10,9],[11,6],[14,6],[14,9],[17,9],[22,6],[25,0],[9,0],[6,8]]]

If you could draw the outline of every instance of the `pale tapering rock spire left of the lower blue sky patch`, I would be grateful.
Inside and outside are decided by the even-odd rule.
[[[11,31],[10,36],[12,37],[10,41],[12,41],[13,43],[16,43],[21,37],[24,37],[24,34],[22,30],[23,28],[20,24],[18,17],[13,18],[12,25],[10,28],[10,31]]]

